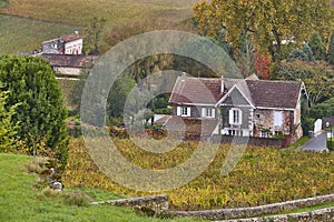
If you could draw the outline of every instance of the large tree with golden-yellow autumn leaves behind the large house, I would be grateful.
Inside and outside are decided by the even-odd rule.
[[[236,48],[240,33],[247,31],[274,61],[282,60],[283,40],[301,44],[313,31],[328,36],[333,14],[328,0],[203,0],[194,6],[202,34],[217,37],[226,29]]]

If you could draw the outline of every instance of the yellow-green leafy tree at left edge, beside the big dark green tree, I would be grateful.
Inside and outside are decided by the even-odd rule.
[[[6,108],[8,91],[0,91],[0,152],[14,151],[18,124],[12,122],[12,115],[18,104]]]

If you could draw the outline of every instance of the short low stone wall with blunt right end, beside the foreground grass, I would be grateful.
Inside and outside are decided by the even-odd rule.
[[[110,204],[117,206],[138,206],[138,208],[149,208],[155,212],[168,211],[168,195],[149,195],[141,198],[129,198],[129,199],[120,199],[120,200],[110,200],[110,201],[101,201],[101,202],[92,202],[92,205],[99,204]]]

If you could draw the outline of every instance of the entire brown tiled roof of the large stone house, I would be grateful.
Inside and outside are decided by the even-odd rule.
[[[224,81],[224,93],[222,93]],[[302,84],[292,81],[265,81],[255,77],[215,79],[179,77],[171,92],[170,103],[216,104],[234,85],[255,105],[264,108],[295,108]]]

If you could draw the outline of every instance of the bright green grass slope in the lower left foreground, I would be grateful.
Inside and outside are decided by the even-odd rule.
[[[33,185],[38,178],[28,173],[24,165],[32,164],[33,158],[16,154],[0,154],[0,221],[130,221],[159,222],[155,218],[146,218],[135,213],[129,208],[110,205],[78,206],[80,199],[69,196],[72,190],[55,193],[50,190],[37,190]],[[76,190],[78,192],[78,190]],[[95,190],[85,193],[96,200],[104,198],[120,198],[118,195]],[[73,203],[77,203],[73,204]],[[195,219],[179,219],[170,221],[190,222]]]

